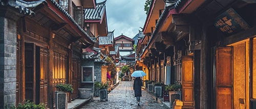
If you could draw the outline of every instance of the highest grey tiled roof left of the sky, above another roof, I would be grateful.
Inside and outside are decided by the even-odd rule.
[[[97,3],[95,9],[89,9],[89,8],[84,9],[84,19],[85,20],[101,20],[103,18],[105,7],[106,7],[105,3],[106,1]]]

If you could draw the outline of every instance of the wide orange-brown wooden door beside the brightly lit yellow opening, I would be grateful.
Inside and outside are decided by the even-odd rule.
[[[232,48],[216,50],[216,108],[232,108]]]

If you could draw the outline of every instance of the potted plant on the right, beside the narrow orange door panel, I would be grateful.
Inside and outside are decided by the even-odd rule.
[[[175,99],[181,99],[181,85],[175,83],[175,84],[171,84],[171,85],[167,85],[165,87],[165,91],[169,91],[169,102],[170,102],[170,106],[173,105],[173,102],[175,101]]]

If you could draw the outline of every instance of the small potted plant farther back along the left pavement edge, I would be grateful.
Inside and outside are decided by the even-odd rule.
[[[99,85],[99,96],[100,96],[100,101],[108,101],[108,84],[107,83],[101,83]]]

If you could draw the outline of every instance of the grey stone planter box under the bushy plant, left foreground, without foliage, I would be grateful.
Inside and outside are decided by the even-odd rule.
[[[55,91],[56,109],[58,109],[58,108],[67,109],[68,108],[68,98],[69,98],[68,92]]]

